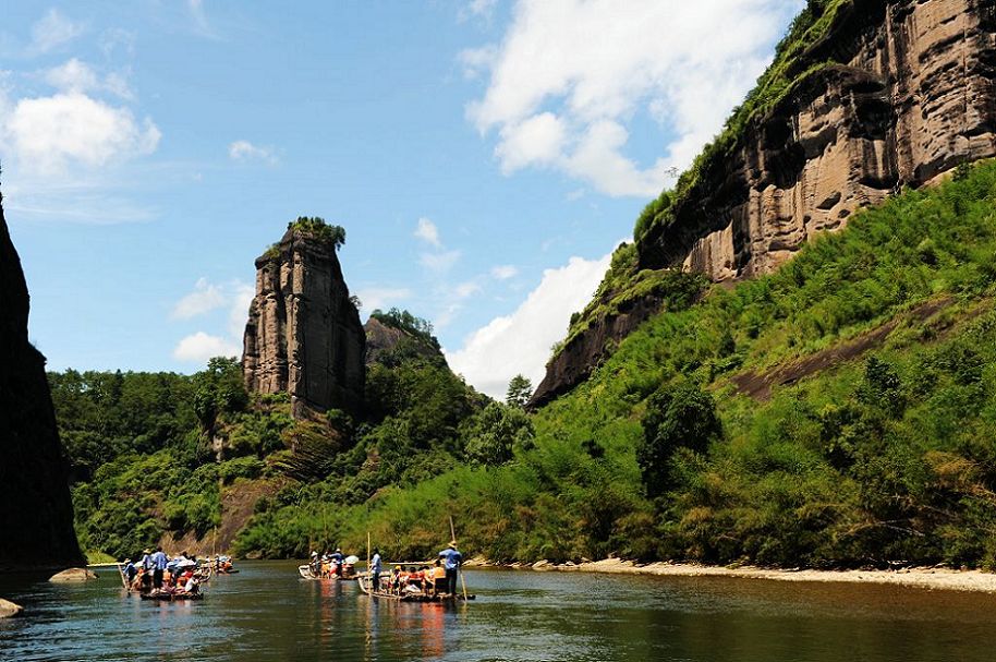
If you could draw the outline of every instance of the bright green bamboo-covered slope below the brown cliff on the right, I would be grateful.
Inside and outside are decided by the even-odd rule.
[[[572,394],[534,419],[536,447],[500,468],[458,467],[362,506],[269,513],[268,528],[315,521],[353,549],[422,555],[453,514],[493,558],[610,552],[731,563],[836,566],[996,561],[996,166],[962,169],[857,215],[772,276],[716,289],[627,338]],[[831,347],[918,303],[954,304],[900,324],[866,358],[776,389],[732,393],[730,376]],[[675,490],[643,496],[634,449],[646,398],[694,380],[725,434],[679,453]]]

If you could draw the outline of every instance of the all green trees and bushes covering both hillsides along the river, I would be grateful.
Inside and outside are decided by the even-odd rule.
[[[372,366],[362,420],[246,405],[224,361],[52,375],[81,539],[117,555],[205,534],[229,490],[269,481],[240,553],[371,531],[421,557],[453,515],[500,561],[996,567],[994,257],[996,164],[961,167],[653,317],[532,416],[416,356]]]

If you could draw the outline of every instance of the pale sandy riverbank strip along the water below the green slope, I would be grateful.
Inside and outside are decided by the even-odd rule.
[[[466,567],[486,567],[495,564],[475,558]],[[618,575],[657,575],[666,577],[734,577],[740,579],[769,579],[777,581],[825,581],[850,583],[889,583],[921,589],[947,591],[979,591],[996,593],[996,574],[980,570],[950,568],[902,568],[899,570],[775,570],[755,567],[726,568],[675,563],[635,564],[620,558],[555,565],[538,562],[533,565],[511,565],[517,569],[542,571],[582,571]]]

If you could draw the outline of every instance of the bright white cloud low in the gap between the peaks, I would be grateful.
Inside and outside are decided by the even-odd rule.
[[[511,315],[496,317],[471,334],[457,351],[446,351],[453,370],[495,398],[503,398],[509,381],[523,374],[538,386],[550,347],[567,333],[571,313],[582,310],[611,262],[571,257],[546,269],[543,280]]]

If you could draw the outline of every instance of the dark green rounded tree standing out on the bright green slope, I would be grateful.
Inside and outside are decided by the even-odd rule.
[[[672,486],[670,460],[678,448],[705,453],[709,442],[722,434],[713,396],[699,384],[665,385],[648,399],[643,416],[643,442],[636,447],[636,462],[649,496]]]

